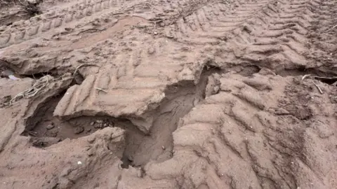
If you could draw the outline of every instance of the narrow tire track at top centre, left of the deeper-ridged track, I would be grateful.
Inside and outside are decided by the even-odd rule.
[[[225,39],[230,31],[239,28],[267,3],[270,1],[208,3],[191,15],[180,18],[176,25],[165,29],[165,34],[184,43],[218,43],[219,39]]]

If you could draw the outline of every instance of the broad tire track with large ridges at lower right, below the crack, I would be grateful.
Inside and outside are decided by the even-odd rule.
[[[147,167],[145,171],[149,178],[164,180],[166,175],[172,178],[183,176],[182,188],[198,188],[201,183],[209,188],[214,183],[223,183],[220,188],[331,187],[333,182],[322,179],[326,175],[326,165],[298,163],[303,162],[304,154],[308,155],[306,160],[310,162],[322,160],[322,156],[316,156],[315,153],[310,155],[307,151],[319,151],[324,142],[319,142],[317,146],[311,145],[315,134],[310,132],[308,120],[297,120],[295,114],[278,113],[284,111],[279,108],[282,106],[279,99],[286,99],[285,102],[298,101],[297,95],[292,96],[296,92],[293,93],[286,86],[300,87],[302,90],[308,87],[306,85],[311,85],[309,81],[299,86],[293,83],[293,77],[283,78],[264,71],[251,78],[225,73],[218,79],[218,94],[206,98],[183,118],[182,125],[173,132],[173,158]],[[284,92],[288,94],[286,97],[283,96]],[[262,109],[258,105],[261,99],[268,105]],[[328,103],[326,106],[334,106],[326,97],[321,100]],[[314,116],[319,114],[317,112]],[[325,121],[330,118],[333,118],[333,113]],[[296,124],[291,124],[293,119],[297,120]],[[315,117],[310,120],[315,123]],[[336,118],[333,120],[336,121]],[[331,140],[326,142],[334,143]],[[328,157],[332,157],[334,151],[324,151],[324,154],[326,152]],[[162,169],[175,162],[185,166],[178,170],[175,167],[174,171]],[[333,162],[328,166],[333,167]],[[193,171],[185,167],[192,167]],[[198,180],[194,179],[196,173],[199,173]],[[227,182],[228,178],[230,182]],[[249,182],[246,182],[246,178],[249,178]]]

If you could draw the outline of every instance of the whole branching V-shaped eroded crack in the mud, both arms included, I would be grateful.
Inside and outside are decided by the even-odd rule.
[[[150,132],[147,133],[138,129],[135,118],[79,116],[62,120],[53,116],[55,107],[67,92],[64,90],[37,106],[33,115],[25,121],[25,131],[22,135],[30,136],[33,146],[46,148],[65,139],[88,136],[105,127],[121,127],[126,130],[126,147],[121,158],[121,167],[139,167],[150,160],[163,162],[173,155],[172,133],[177,129],[180,118],[205,98],[209,76],[220,72],[222,70],[216,67],[205,66],[199,76],[199,83],[194,84],[194,80],[182,80],[168,85],[159,106],[143,115],[153,119]]]

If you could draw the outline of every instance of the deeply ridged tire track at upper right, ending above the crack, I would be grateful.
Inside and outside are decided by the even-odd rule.
[[[305,57],[309,52],[306,35],[313,19],[306,13],[306,3],[267,4],[241,29],[234,29],[230,40],[218,46],[218,51],[232,54],[216,57],[219,64],[256,64],[276,70],[309,66]]]

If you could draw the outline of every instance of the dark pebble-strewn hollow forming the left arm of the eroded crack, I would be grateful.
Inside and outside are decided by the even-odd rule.
[[[115,127],[117,124],[119,127],[128,127],[129,130],[135,128],[128,120],[117,120],[108,116],[81,116],[70,120],[60,120],[54,117],[55,107],[65,92],[63,91],[40,104],[34,115],[27,118],[25,131],[22,132],[22,135],[30,136],[33,146],[45,148],[64,139],[85,137],[105,127]]]

